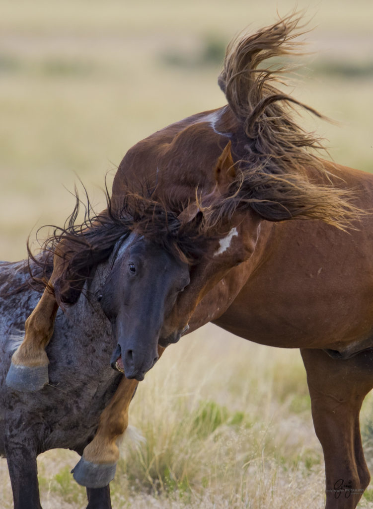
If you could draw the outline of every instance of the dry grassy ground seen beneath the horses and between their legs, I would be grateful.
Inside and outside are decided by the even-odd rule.
[[[146,442],[122,445],[114,509],[322,509],[324,462],[306,393],[296,350],[250,344],[212,325],[187,336],[167,349],[131,403],[130,423]],[[361,415],[368,462],[372,403],[368,397]],[[44,509],[84,507],[69,473],[77,459],[62,450],[40,456]],[[8,496],[5,462],[0,468]],[[359,507],[372,507],[371,498],[368,489]]]

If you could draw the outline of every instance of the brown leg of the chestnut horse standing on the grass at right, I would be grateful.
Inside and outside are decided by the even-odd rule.
[[[322,350],[301,350],[315,432],[325,459],[326,509],[354,509],[369,484],[359,427],[365,395],[373,387],[373,352],[347,360]]]

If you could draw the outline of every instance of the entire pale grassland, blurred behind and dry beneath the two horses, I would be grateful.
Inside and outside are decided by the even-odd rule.
[[[312,55],[294,95],[333,118],[305,118],[331,157],[372,171],[373,4],[312,3]],[[63,224],[78,178],[97,211],[137,140],[225,103],[216,80],[224,48],[246,25],[271,24],[289,0],[2,0],[0,5],[0,252],[25,257],[28,235]],[[66,189],[67,188],[67,189]],[[373,405],[361,418],[373,467]],[[324,507],[297,351],[270,349],[207,326],[170,347],[140,384],[130,422],[147,442],[124,446],[113,507]],[[44,509],[84,507],[69,451],[40,457]],[[371,468],[371,471],[373,468]],[[12,507],[6,462],[0,506]],[[373,507],[368,489],[359,507]]]

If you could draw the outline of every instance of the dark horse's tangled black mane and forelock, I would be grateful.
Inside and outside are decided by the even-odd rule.
[[[138,192],[128,187],[120,210],[117,207],[113,210],[106,188],[107,207],[100,214],[93,212],[85,188],[84,193],[83,202],[75,189],[74,210],[63,227],[46,225],[38,230],[39,233],[44,228],[53,229],[53,233],[41,243],[39,256],[34,256],[27,241],[28,267],[31,285],[35,290],[49,287],[50,291],[58,294],[60,301],[70,304],[76,302],[92,269],[108,260],[114,246],[134,230],[185,263],[193,264],[201,256],[204,238],[199,235],[199,230],[193,227],[181,229],[177,214],[152,199],[152,191],[147,183]],[[79,221],[81,206],[84,208],[84,218]],[[60,242],[65,245],[63,250],[58,248]],[[50,287],[48,280],[53,258],[56,254],[59,256],[61,251],[68,264],[60,280]]]

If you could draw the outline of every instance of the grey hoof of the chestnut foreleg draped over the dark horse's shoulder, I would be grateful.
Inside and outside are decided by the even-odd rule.
[[[19,392],[36,392],[48,381],[48,364],[30,367],[11,362],[5,383]]]

